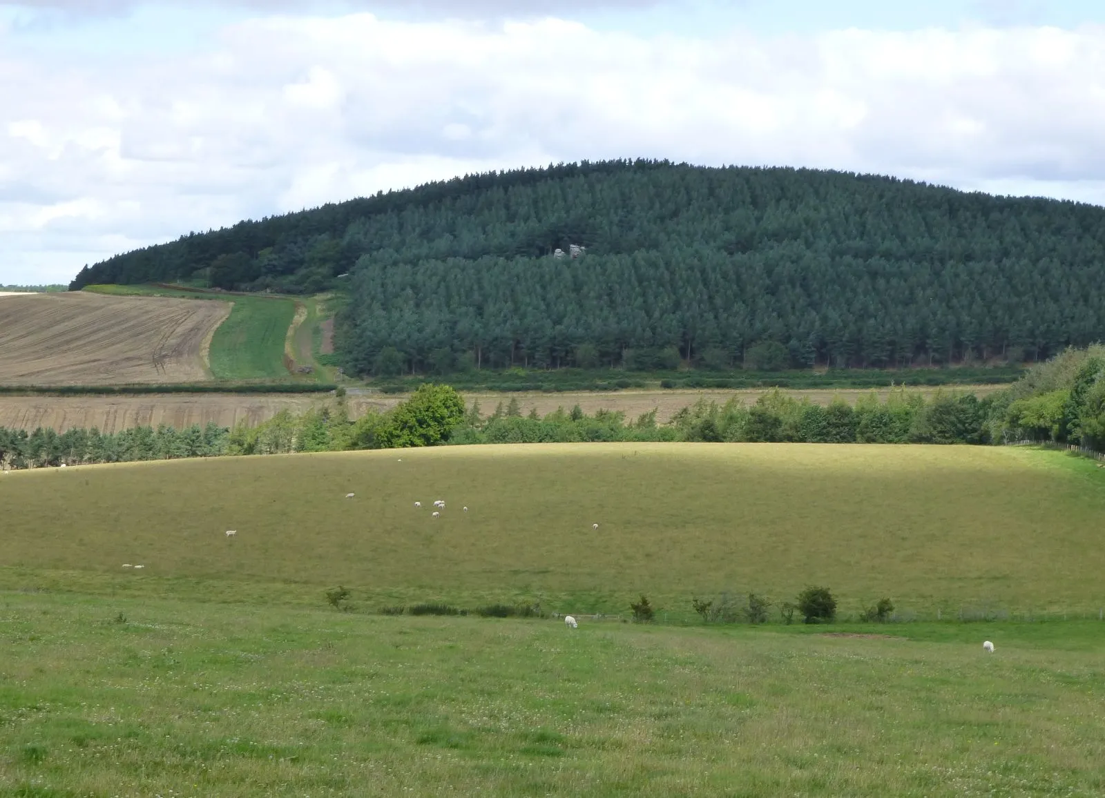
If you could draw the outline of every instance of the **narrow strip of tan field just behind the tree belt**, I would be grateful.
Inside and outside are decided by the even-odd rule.
[[[998,388],[1000,386],[962,386],[957,390],[985,396]],[[936,389],[917,390],[927,396]],[[699,398],[725,402],[732,397],[738,397],[745,403],[751,403],[764,392],[764,390],[653,390],[619,391],[615,393],[467,393],[464,399],[470,406],[473,400],[478,401],[485,416],[494,411],[498,402],[506,406],[512,398],[517,398],[523,413],[528,413],[530,409],[536,408],[537,412],[545,414],[552,412],[558,407],[564,407],[567,410],[579,405],[588,413],[593,413],[599,409],[621,410],[628,418],[634,418],[655,408],[657,420],[664,422],[669,421],[681,408],[694,405]],[[828,405],[834,396],[840,396],[845,401],[854,403],[856,398],[866,391],[793,390],[786,392]],[[877,391],[880,396],[885,396],[886,392],[886,390]],[[400,395],[350,393],[348,397],[349,414],[354,418],[360,418],[368,410],[387,410],[404,398]],[[267,421],[281,410],[303,412],[327,399],[333,399],[333,397],[303,393],[0,396],[0,427],[28,431],[39,427],[52,427],[59,432],[80,427],[97,427],[103,432],[117,432],[130,427],[157,427],[162,423],[177,429],[192,424],[203,427],[211,421],[220,427],[233,427],[241,421],[253,426]]]

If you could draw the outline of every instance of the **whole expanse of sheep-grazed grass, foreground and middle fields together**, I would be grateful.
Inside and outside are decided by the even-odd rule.
[[[227,458],[9,473],[0,507],[0,796],[1105,792],[1105,470],[1056,452]],[[945,620],[690,611],[808,582]],[[641,591],[661,623],[375,613]],[[983,605],[1035,620],[947,620]]]

